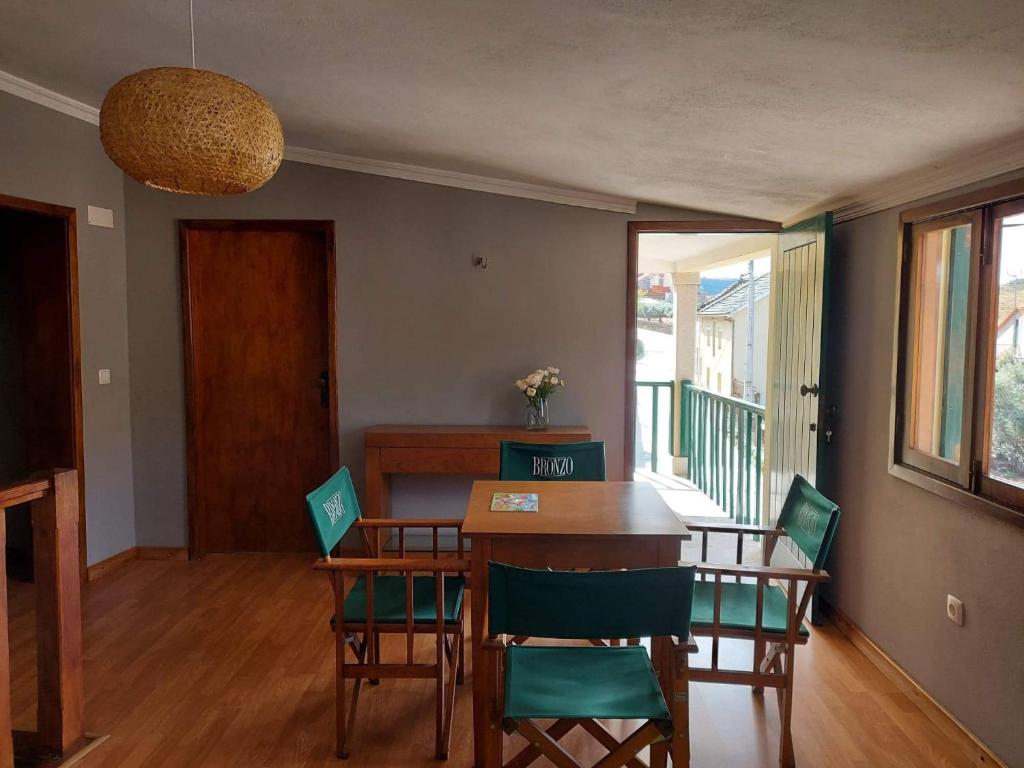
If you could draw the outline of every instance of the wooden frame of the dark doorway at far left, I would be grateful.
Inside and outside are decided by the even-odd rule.
[[[82,426],[82,335],[78,306],[78,211],[69,206],[0,194],[0,208],[38,213],[65,222],[65,258],[68,265],[68,332],[71,335],[72,442],[78,472],[78,560],[82,584],[88,581],[85,525],[85,430]],[[56,469],[49,467],[48,469]],[[60,467],[60,469],[63,469]]]

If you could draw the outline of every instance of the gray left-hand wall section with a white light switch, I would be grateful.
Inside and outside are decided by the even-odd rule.
[[[0,193],[78,210],[82,399],[88,561],[135,545],[131,487],[123,175],[96,127],[0,93]],[[114,229],[89,226],[86,206],[114,209]],[[109,386],[96,372],[112,371]]]

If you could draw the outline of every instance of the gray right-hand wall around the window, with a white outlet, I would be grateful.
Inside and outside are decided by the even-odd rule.
[[[906,206],[909,207],[909,206]],[[836,227],[831,601],[1010,765],[1024,765],[1024,527],[888,472],[898,210]],[[964,601],[965,626],[945,616]]]

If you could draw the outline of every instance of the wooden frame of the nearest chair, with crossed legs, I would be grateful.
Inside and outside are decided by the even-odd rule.
[[[521,733],[529,743],[515,757],[502,764],[502,768],[526,768],[542,755],[558,768],[584,768],[558,742],[577,726],[593,736],[608,754],[595,763],[594,768],[666,768],[671,753],[672,764],[676,768],[688,766],[690,762],[689,735],[689,654],[697,650],[692,635],[685,642],[672,638],[672,674],[662,682],[663,693],[669,702],[672,725],[666,728],[664,722],[648,720],[633,733],[620,741],[600,722],[593,719],[556,720],[547,728],[542,728],[530,718],[506,718],[505,711],[505,659],[509,645],[516,638],[506,635],[487,635],[483,641],[484,674],[493,681],[490,690],[495,692],[487,712],[487,727],[501,727],[506,733]],[[591,640],[594,645],[605,645],[602,640]],[[617,644],[617,643],[615,643]],[[668,744],[665,749],[664,744]],[[637,755],[645,746],[651,746],[650,766]],[[500,763],[500,761],[499,761]]]

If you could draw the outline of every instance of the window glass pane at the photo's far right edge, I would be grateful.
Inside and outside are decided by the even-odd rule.
[[[1024,487],[1024,213],[996,221],[999,240],[988,473]]]

